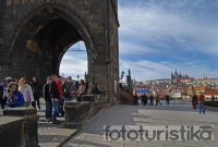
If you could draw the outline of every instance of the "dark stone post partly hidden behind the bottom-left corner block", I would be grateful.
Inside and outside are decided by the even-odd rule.
[[[24,147],[38,147],[38,115],[35,108],[9,108],[3,110],[3,115],[23,118]]]

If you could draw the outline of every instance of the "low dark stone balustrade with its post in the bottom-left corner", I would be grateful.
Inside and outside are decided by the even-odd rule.
[[[5,147],[38,147],[37,110],[8,108],[0,119],[0,144]]]

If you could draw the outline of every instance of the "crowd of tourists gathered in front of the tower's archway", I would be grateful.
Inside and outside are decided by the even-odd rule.
[[[5,107],[33,107],[41,109],[40,97],[46,101],[46,121],[59,124],[57,117],[64,115],[64,101],[82,101],[82,95],[88,93],[88,83],[84,79],[73,81],[71,76],[63,82],[56,74],[47,77],[45,84],[40,84],[37,77],[15,79],[7,77],[0,84],[0,105]],[[94,84],[90,94],[100,94],[97,84]]]

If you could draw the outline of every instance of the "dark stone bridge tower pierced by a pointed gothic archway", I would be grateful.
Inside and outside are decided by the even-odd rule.
[[[116,101],[118,27],[117,0],[0,0],[0,78],[59,74],[66,49],[83,40],[88,81]]]

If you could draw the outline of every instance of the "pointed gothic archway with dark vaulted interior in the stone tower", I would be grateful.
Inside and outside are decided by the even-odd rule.
[[[85,42],[86,49],[93,46],[85,25],[72,10],[52,3],[39,7],[25,17],[14,34],[10,58],[14,59],[12,65],[17,71],[22,66],[15,76],[45,78],[51,73],[59,74],[65,49],[80,40]],[[88,72],[90,70],[88,68]]]

